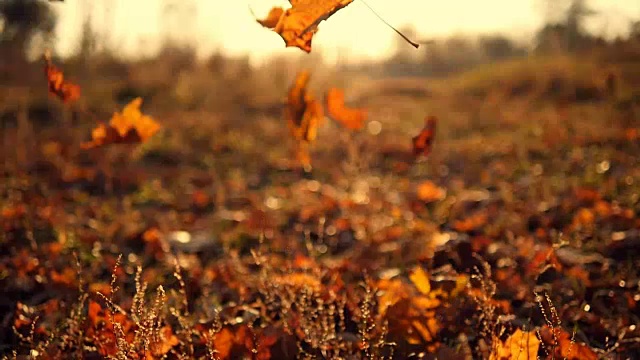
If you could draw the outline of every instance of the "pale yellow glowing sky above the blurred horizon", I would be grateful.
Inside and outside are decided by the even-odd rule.
[[[328,0],[330,1],[330,0]],[[557,3],[563,0],[555,0]],[[169,18],[163,9],[178,4]],[[538,28],[545,16],[546,0],[367,0],[387,22],[412,26],[419,38],[474,32],[506,32],[525,37]],[[126,56],[150,55],[167,33],[188,37],[201,54],[222,49],[230,54],[250,54],[259,60],[270,54],[299,53],[284,49],[280,37],[257,24],[286,0],[67,0],[52,2],[59,14],[57,49],[68,54],[77,44],[84,14],[92,14],[99,34]],[[640,0],[592,0],[601,16],[590,28],[608,34],[624,32],[633,19],[640,19]],[[192,7],[191,11],[189,6]],[[180,14],[184,15],[180,15]],[[349,59],[381,58],[393,51],[397,35],[371,11],[355,0],[321,23],[313,41],[314,51],[329,58],[338,52]]]

